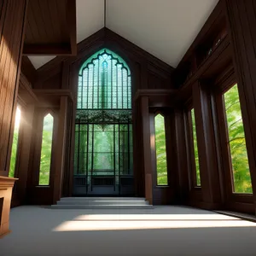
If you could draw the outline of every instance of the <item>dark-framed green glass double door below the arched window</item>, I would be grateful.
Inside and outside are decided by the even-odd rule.
[[[76,124],[73,195],[132,195],[131,124]]]

